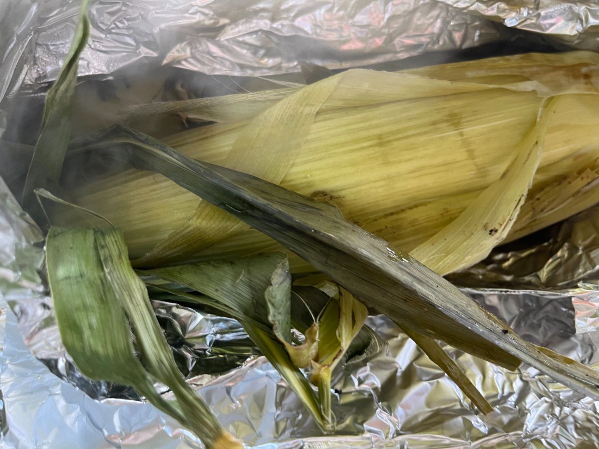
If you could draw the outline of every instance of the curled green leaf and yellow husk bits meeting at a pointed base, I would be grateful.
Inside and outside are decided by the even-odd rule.
[[[341,289],[340,294],[322,307],[314,311],[307,309],[308,320],[298,325],[304,332],[304,342],[295,344],[291,329],[292,321],[297,323],[298,317],[292,318],[291,275],[283,253],[177,265],[143,270],[140,274],[152,276],[147,280],[149,285],[179,295],[185,301],[211,305],[232,314],[288,381],[321,429],[334,429],[332,371],[359,333],[368,339],[367,330],[363,329],[367,310],[349,292]],[[172,286],[165,287],[164,282],[187,287],[193,293],[177,292]],[[334,290],[337,291],[337,286]],[[308,308],[307,303],[304,304]],[[376,338],[372,342],[378,343]],[[362,354],[367,353],[370,345],[368,341]],[[311,370],[311,381],[318,387],[318,399],[299,368]]]

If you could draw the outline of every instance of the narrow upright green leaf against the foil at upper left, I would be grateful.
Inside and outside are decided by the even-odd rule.
[[[34,189],[56,191],[66,148],[71,139],[72,96],[77,83],[77,65],[79,55],[89,38],[86,10],[87,0],[83,0],[71,48],[58,78],[46,95],[41,132],[25,180],[23,208],[38,223],[44,219],[44,214],[37,204]]]

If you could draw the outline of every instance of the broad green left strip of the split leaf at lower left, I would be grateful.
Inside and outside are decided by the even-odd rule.
[[[104,268],[93,251],[95,232],[52,227],[46,248],[56,321],[77,367],[92,380],[134,386],[152,404],[183,422],[177,409],[155,393],[152,378],[134,356],[127,317],[116,292],[102,276]],[[65,248],[77,250],[63,251]]]

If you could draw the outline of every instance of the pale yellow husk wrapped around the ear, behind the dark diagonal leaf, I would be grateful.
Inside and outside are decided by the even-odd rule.
[[[347,219],[411,251],[501,177],[536,126],[541,104],[559,95],[544,125],[531,191],[559,188],[561,178],[581,170],[588,182],[568,184],[571,200],[550,204],[541,221],[516,217],[506,235],[498,234],[510,239],[599,198],[592,183],[598,63],[594,53],[574,52],[398,73],[347,71],[302,89],[193,101],[206,119],[223,123],[166,142],[187,156],[332,202]],[[75,204],[122,227],[138,266],[280,249],[155,175],[126,172],[69,193]],[[532,198],[523,211],[531,210]],[[298,259],[291,264],[309,268]]]

